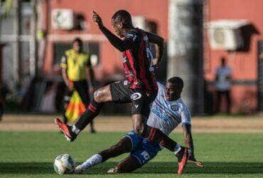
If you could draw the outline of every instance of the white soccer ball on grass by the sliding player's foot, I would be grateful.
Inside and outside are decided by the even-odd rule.
[[[68,154],[58,155],[55,157],[54,170],[58,174],[72,173],[75,169],[75,166],[76,163],[74,159]]]

